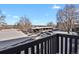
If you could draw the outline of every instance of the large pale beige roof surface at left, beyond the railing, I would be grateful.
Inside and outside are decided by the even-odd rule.
[[[0,41],[27,37],[26,34],[17,29],[4,29],[0,31]]]

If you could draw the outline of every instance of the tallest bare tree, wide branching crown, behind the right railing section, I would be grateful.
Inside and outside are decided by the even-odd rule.
[[[63,9],[58,10],[57,12],[57,25],[58,27],[62,27],[62,29],[68,31],[72,31],[74,27],[75,20],[77,20],[76,14],[76,6],[75,5],[66,5]]]

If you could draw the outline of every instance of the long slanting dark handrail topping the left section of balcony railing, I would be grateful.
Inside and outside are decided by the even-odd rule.
[[[45,40],[45,38],[49,38],[49,37],[55,36],[55,35],[50,35],[50,36],[47,36],[47,37],[42,37],[42,38],[36,39],[36,40],[31,38],[31,40],[28,40],[28,41],[25,41],[25,42],[20,42],[20,43],[11,45],[11,46],[4,47],[3,49],[0,49],[0,52],[6,51],[6,50],[9,50],[9,49],[13,49],[15,47],[19,47],[19,46],[22,46],[22,45],[28,45],[28,44],[33,43],[33,42],[37,42],[37,41],[39,42],[41,40]]]

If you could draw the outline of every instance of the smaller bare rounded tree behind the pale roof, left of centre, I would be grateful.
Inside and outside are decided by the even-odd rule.
[[[17,23],[16,27],[22,31],[28,31],[31,29],[31,22],[26,16],[22,16],[20,17],[20,20]]]

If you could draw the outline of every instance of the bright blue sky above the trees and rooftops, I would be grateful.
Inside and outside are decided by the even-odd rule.
[[[63,7],[64,4],[0,4],[8,24],[15,24],[20,16],[29,18],[33,25],[56,23],[57,10]]]

